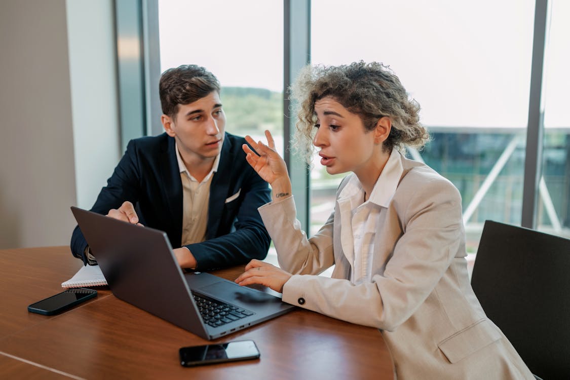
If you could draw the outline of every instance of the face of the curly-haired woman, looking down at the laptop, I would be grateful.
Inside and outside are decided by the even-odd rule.
[[[365,130],[359,115],[329,96],[315,102],[315,113],[317,132],[313,144],[320,148],[320,163],[327,167],[327,173],[353,171],[360,177],[359,173],[374,167],[382,148],[374,141],[374,130]]]

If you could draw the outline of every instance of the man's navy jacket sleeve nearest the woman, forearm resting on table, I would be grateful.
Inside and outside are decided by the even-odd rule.
[[[271,200],[271,190],[267,182],[248,168],[241,188],[243,199],[234,201],[241,201],[235,217],[235,231],[186,246],[196,258],[196,269],[228,267],[266,258],[271,239],[257,209]]]

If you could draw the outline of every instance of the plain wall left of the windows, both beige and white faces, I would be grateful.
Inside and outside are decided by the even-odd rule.
[[[79,198],[80,206],[91,206],[95,199],[89,191],[104,185],[104,179],[94,177],[107,178],[118,160],[115,77],[109,77],[114,60],[109,60],[109,46],[102,48],[109,38],[111,1],[93,3],[70,6],[70,15],[85,7],[78,24],[91,33],[81,37],[83,53],[70,53],[65,0],[0,1],[0,248],[69,244],[75,226],[69,207]],[[97,19],[106,21],[93,24]],[[74,49],[79,26],[74,19],[69,38]],[[93,62],[81,67],[82,54]],[[90,81],[82,81],[84,75]],[[71,85],[70,76],[77,84]],[[93,87],[91,95],[88,87]],[[76,149],[73,123],[75,140],[83,144]],[[93,137],[95,125],[103,126]],[[115,148],[101,153],[95,144],[106,138]],[[89,156],[79,157],[80,151]]]

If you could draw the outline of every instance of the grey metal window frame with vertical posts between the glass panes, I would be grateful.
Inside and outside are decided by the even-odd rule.
[[[131,138],[162,132],[160,124],[160,47],[158,39],[158,0],[115,2],[117,41],[117,82],[119,87],[120,134],[123,148]],[[310,227],[311,183],[308,167],[288,149],[287,141],[295,130],[293,104],[287,88],[299,69],[311,62],[311,0],[283,0],[284,7],[284,95],[283,141],[298,219],[302,228]],[[536,228],[538,191],[543,161],[544,136],[544,55],[551,5],[535,1],[532,46],[531,85],[526,134],[521,225]],[[137,56],[125,54],[121,41],[131,41],[139,48]],[[136,117],[140,115],[140,117]]]

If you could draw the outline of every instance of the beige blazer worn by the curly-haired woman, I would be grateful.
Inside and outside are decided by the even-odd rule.
[[[280,266],[294,273],[283,300],[380,329],[398,379],[534,379],[471,289],[458,190],[429,166],[400,161],[400,183],[374,237],[370,283],[349,281],[338,202],[310,239],[292,197],[259,208]],[[332,278],[315,276],[333,264]]]

